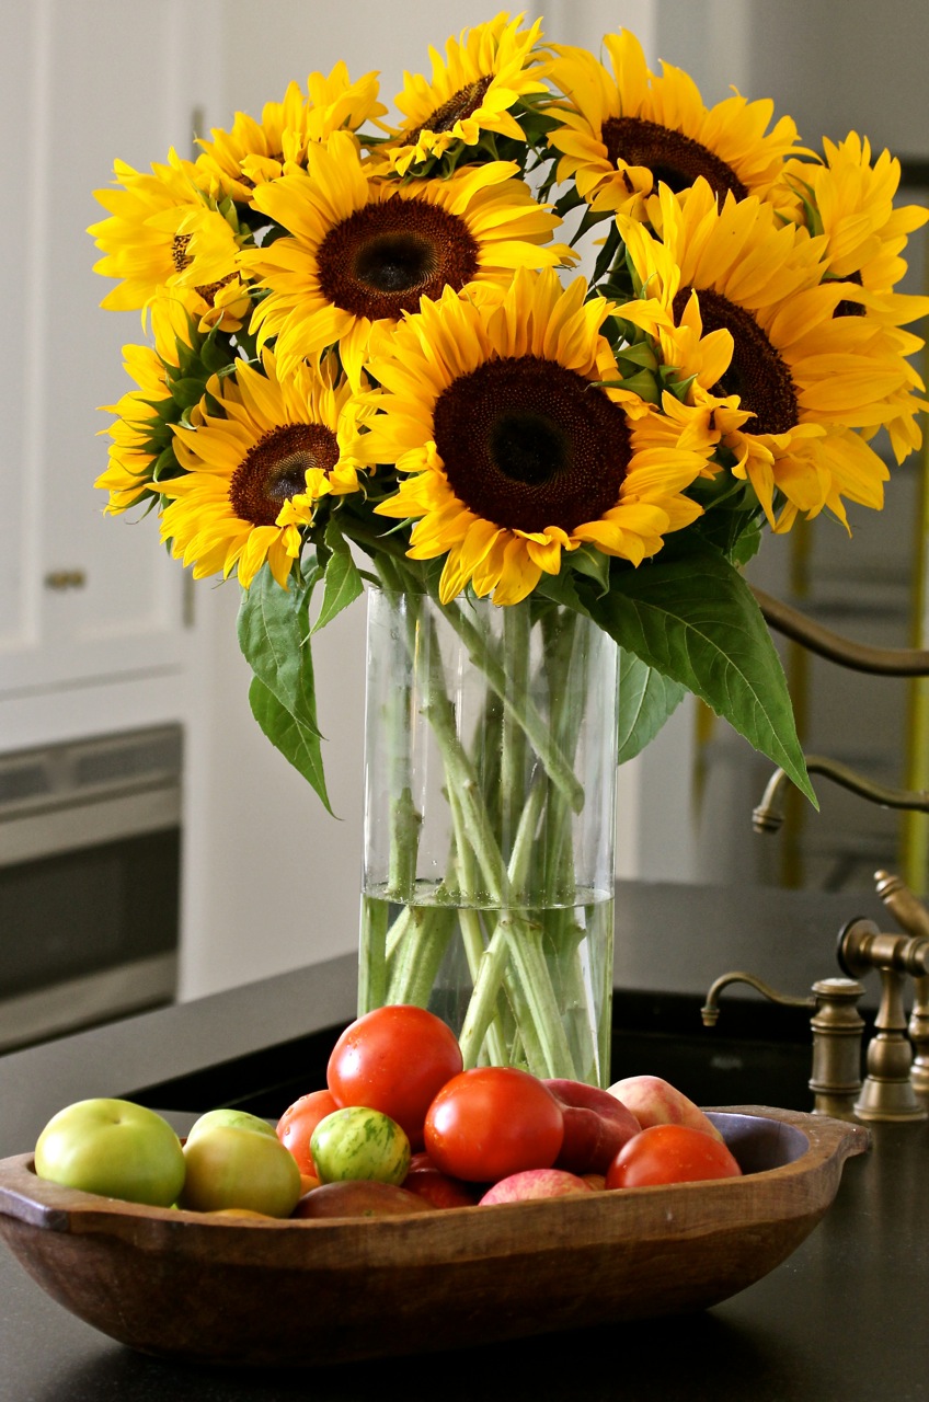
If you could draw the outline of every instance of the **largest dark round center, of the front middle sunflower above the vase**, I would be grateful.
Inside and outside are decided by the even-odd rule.
[[[626,416],[602,390],[530,355],[455,380],[434,432],[459,501],[509,530],[598,520],[616,506],[631,453]]]

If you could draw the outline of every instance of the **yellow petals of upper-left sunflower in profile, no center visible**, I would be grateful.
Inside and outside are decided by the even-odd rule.
[[[341,60],[326,77],[310,73],[309,101],[290,83],[283,101],[267,102],[261,122],[236,112],[232,130],[213,129],[212,140],[198,140],[198,177],[218,199],[251,203],[255,185],[283,175],[288,165],[306,164],[309,142],[323,142],[340,128],[356,130],[387,109],[377,101],[377,74],[352,83]]]

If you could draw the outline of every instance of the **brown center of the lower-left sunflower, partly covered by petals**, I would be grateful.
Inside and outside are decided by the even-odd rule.
[[[229,486],[229,502],[240,520],[274,526],[283,502],[306,491],[312,467],[331,471],[338,440],[324,423],[282,423],[248,449]]]

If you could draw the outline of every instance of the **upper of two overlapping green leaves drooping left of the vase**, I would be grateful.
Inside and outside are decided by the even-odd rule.
[[[310,583],[303,590],[282,589],[268,565],[262,565],[250,587],[243,590],[239,646],[283,709],[302,729],[319,735],[309,637],[312,587]]]

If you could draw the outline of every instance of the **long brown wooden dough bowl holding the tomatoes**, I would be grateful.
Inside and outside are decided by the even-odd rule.
[[[0,1234],[55,1300],[146,1353],[299,1366],[704,1308],[777,1266],[867,1131],[759,1106],[711,1112],[744,1176],[269,1221],[97,1197],[0,1161]]]

